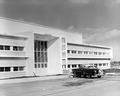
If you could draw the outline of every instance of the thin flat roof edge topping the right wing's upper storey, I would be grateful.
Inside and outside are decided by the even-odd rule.
[[[101,48],[101,49],[111,49],[112,47],[108,46],[101,46],[101,45],[93,45],[93,44],[74,44],[74,43],[67,43],[68,45],[74,46],[84,46],[84,47],[92,47],[92,48]]]

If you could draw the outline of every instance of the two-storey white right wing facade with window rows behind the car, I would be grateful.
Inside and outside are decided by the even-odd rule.
[[[80,66],[93,66],[100,69],[110,68],[112,50],[109,47],[89,44],[67,44],[68,69]]]

